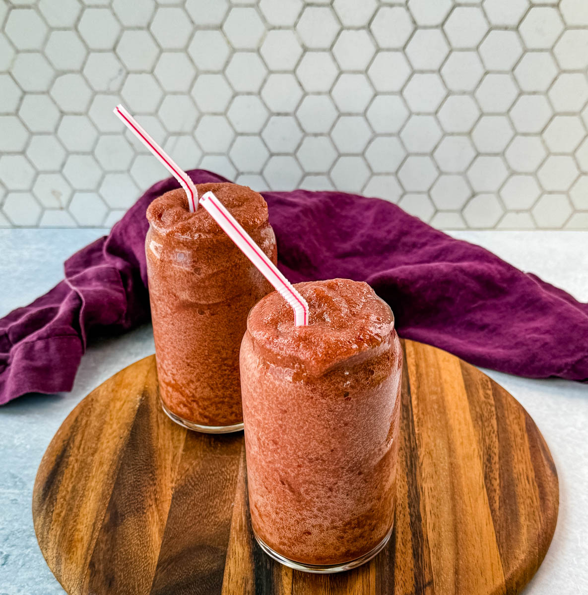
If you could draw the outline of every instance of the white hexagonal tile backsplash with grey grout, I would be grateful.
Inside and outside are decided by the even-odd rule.
[[[165,170],[588,230],[588,0],[0,0],[0,227],[110,226]]]

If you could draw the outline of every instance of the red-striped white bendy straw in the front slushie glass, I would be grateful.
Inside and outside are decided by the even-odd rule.
[[[233,240],[237,248],[249,258],[258,268],[259,272],[270,281],[282,297],[292,306],[294,311],[294,324],[297,327],[308,324],[308,303],[292,287],[290,281],[277,269],[276,265],[267,257],[265,252],[259,248],[249,234],[239,225],[237,220],[230,214],[212,192],[202,195],[200,201],[202,206],[209,212],[210,216],[223,228],[223,231]]]

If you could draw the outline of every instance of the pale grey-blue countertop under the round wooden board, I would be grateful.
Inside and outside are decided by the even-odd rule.
[[[105,230],[0,230],[0,317],[44,293],[62,277],[62,261]],[[526,271],[588,301],[588,232],[456,231]],[[31,515],[35,474],[61,422],[90,390],[154,352],[145,325],[93,343],[71,393],[21,397],[0,408],[0,595],[64,593],[37,546]],[[555,536],[526,595],[588,593],[588,387],[528,380],[484,370],[536,421],[558,468]]]

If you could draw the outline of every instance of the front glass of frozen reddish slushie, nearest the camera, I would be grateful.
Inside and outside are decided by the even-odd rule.
[[[299,283],[309,324],[277,292],[240,353],[249,505],[270,556],[309,572],[373,558],[392,533],[402,349],[367,283]]]

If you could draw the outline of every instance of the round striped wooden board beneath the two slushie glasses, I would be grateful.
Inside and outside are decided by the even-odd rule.
[[[70,595],[518,593],[555,530],[549,449],[486,375],[403,345],[395,527],[371,562],[312,575],[268,558],[251,532],[243,434],[171,422],[149,356],[83,399],[43,456],[33,518],[49,568]]]

